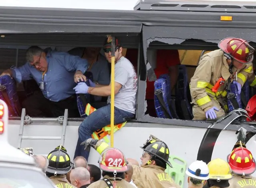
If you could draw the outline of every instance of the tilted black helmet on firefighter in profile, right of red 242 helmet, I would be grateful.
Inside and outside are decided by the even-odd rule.
[[[149,137],[150,138],[150,137]],[[159,158],[166,162],[170,167],[172,167],[169,160],[169,148],[165,144],[165,142],[160,141],[159,139],[148,139],[147,142],[144,143],[144,146],[141,147],[144,151],[148,152],[149,154]]]

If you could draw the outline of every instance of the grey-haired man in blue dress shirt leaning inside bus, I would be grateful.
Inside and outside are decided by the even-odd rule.
[[[42,92],[35,92],[22,103],[26,113],[32,117],[58,117],[69,109],[69,117],[79,117],[73,87],[86,80],[83,74],[87,60],[66,52],[45,52],[38,46],[27,49],[26,60],[23,66],[2,73],[19,83],[34,79],[38,84]]]

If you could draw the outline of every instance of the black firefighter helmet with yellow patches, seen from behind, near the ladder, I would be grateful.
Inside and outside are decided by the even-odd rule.
[[[46,172],[52,174],[67,174],[73,167],[73,163],[70,161],[69,154],[65,150],[58,147],[51,151],[47,158],[49,165]]]

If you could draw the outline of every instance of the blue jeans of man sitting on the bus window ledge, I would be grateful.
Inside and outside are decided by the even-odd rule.
[[[88,161],[89,152],[84,150],[84,146],[80,146],[80,144],[91,138],[91,135],[94,131],[105,127],[106,125],[110,124],[110,114],[111,114],[111,105],[107,105],[105,107],[101,107],[91,113],[85,120],[81,123],[78,128],[78,141],[77,141],[77,148],[75,150],[75,157],[83,156]],[[118,109],[115,107],[115,117],[114,117],[114,125],[119,123],[125,122],[124,118],[131,118],[134,117],[133,113]]]

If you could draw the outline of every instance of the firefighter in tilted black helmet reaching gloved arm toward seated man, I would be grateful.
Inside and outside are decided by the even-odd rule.
[[[85,144],[85,149],[92,146],[100,154],[103,150],[109,148],[107,143],[95,139],[87,139],[82,144]],[[165,173],[166,165],[171,166],[168,161],[168,146],[151,135],[141,148],[143,149],[141,167],[132,165],[133,183],[138,188],[180,188],[169,174]]]

